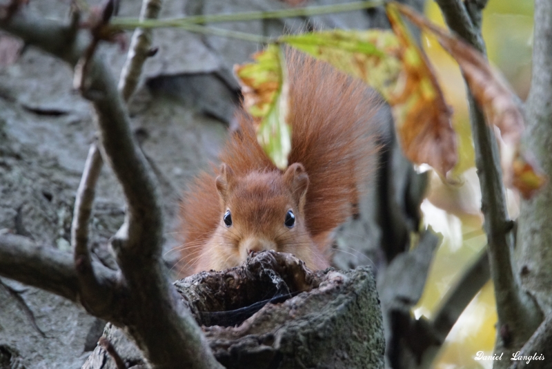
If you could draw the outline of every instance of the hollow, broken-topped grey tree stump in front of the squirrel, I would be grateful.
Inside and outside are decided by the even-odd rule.
[[[293,255],[264,251],[244,266],[175,286],[226,368],[384,367],[382,313],[368,268],[311,271]],[[128,367],[144,363],[119,328],[108,324],[104,337]],[[101,363],[115,368],[97,347],[83,368]]]

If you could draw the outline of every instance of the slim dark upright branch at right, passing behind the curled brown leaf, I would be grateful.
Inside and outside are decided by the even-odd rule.
[[[437,0],[446,23],[468,43],[484,54],[481,36],[480,12],[485,1],[477,9],[466,9],[461,0]],[[506,211],[506,200],[500,170],[500,156],[493,129],[486,125],[484,115],[477,107],[471,92],[468,93],[475,165],[480,179],[484,229],[489,242],[491,277],[495,286],[495,298],[499,332],[509,332],[497,337],[495,350],[521,347],[542,320],[540,310],[520,288],[512,271],[511,220]]]

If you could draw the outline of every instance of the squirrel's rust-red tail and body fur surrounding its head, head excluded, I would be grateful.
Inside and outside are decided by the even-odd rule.
[[[324,249],[326,236],[351,215],[359,189],[366,183],[375,151],[371,120],[375,94],[322,61],[300,52],[286,52],[290,84],[292,151],[289,164],[304,165],[310,184],[306,195],[306,226]],[[253,121],[238,112],[239,131],[220,154],[238,176],[250,171],[278,170],[257,143]],[[203,173],[190,187],[181,208],[188,245],[206,242],[221,214],[215,178]],[[195,250],[186,251],[193,257]],[[186,255],[183,255],[186,257]]]

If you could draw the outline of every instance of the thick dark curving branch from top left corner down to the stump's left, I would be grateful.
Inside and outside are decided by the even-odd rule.
[[[82,32],[75,36],[70,26],[35,17],[26,9],[0,21],[0,28],[72,67],[89,42]],[[115,172],[128,204],[125,222],[112,240],[122,278],[108,319],[126,329],[155,368],[220,368],[201,329],[168,281],[161,262],[163,218],[157,182],[132,136],[115,80],[97,56],[90,59],[84,86],[97,114],[102,157]],[[43,262],[36,266],[48,268]],[[97,306],[89,301],[82,303],[92,315],[104,318],[106,311],[95,310]]]

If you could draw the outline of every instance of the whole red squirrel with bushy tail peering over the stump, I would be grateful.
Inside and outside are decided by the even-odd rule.
[[[220,168],[201,173],[181,204],[183,275],[238,266],[262,250],[329,266],[332,231],[353,213],[369,173],[377,104],[362,81],[327,63],[289,50],[286,62],[288,169],[266,156],[242,108]]]

